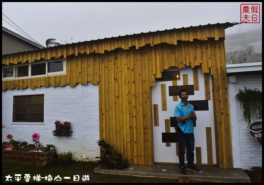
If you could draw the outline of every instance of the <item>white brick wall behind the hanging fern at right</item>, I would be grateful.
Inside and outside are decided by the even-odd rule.
[[[258,88],[262,92],[262,75],[235,75],[227,78],[229,92],[230,124],[232,136],[232,151],[234,168],[248,169],[253,166],[262,167],[262,146],[250,136],[243,117],[243,108],[237,102],[235,95],[238,88]],[[242,105],[243,106],[243,103]]]

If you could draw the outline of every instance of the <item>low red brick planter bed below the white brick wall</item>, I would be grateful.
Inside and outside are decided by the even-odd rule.
[[[35,152],[23,150],[2,149],[2,161],[35,164],[43,166],[56,153],[56,150],[49,152]]]

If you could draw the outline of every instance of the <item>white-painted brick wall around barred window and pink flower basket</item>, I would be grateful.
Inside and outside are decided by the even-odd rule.
[[[45,93],[45,124],[11,124],[12,95],[30,93]],[[82,106],[79,106],[80,97]],[[71,122],[72,136],[53,136],[56,120]],[[69,150],[73,153],[73,157],[81,154],[90,160],[100,156],[100,147],[96,143],[99,140],[98,85],[89,83],[81,88],[79,85],[76,87],[66,85],[4,91],[2,92],[2,123],[6,125],[2,128],[2,142],[8,141],[6,135],[12,134],[12,139],[33,144],[32,134],[38,133],[40,134],[38,141],[43,146],[54,144],[57,153]]]

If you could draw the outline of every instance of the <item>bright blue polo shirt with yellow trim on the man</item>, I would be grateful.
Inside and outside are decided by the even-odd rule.
[[[194,106],[192,106],[190,103],[188,103],[187,107],[185,104],[180,102],[176,107],[174,111],[175,117],[185,117],[188,116],[190,113],[194,112]],[[196,115],[196,114],[195,114]],[[185,120],[186,124],[182,124],[182,122],[178,122],[178,126],[181,128],[183,133],[194,133],[194,124],[192,123],[192,118]]]

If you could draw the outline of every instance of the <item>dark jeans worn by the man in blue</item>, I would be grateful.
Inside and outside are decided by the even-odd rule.
[[[179,166],[185,166],[185,148],[187,145],[187,168],[194,166],[194,133],[183,133],[178,127],[177,129],[178,143],[179,143]]]

